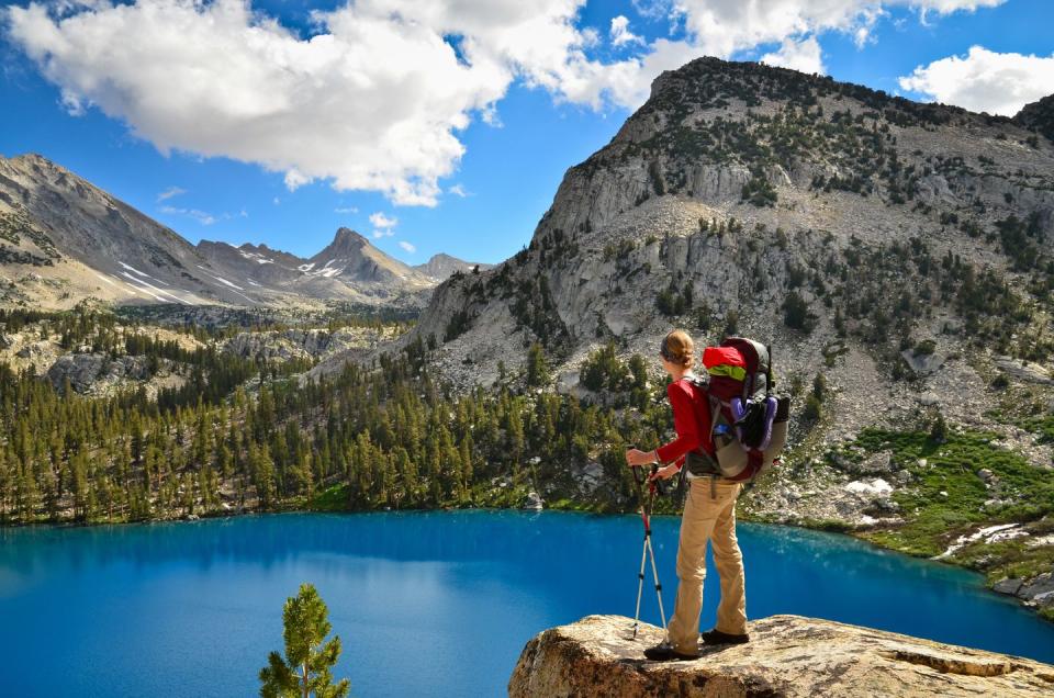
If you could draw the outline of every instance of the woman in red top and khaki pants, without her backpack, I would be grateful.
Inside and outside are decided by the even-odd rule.
[[[710,414],[706,395],[691,380],[694,345],[686,333],[675,329],[662,340],[659,356],[670,374],[666,396],[673,408],[677,438],[654,451],[626,451],[630,466],[655,461],[669,463],[653,477],[672,477],[684,465],[689,451],[713,452]],[[688,477],[688,496],[681,519],[677,547],[677,600],[670,619],[666,641],[644,650],[649,660],[694,660],[699,656],[699,613],[703,609],[703,579],[706,577],[706,545],[714,545],[714,563],[721,578],[721,601],[717,624],[703,633],[706,644],[741,643],[747,635],[747,600],[743,555],[736,540],[736,499],[739,483],[710,477]]]

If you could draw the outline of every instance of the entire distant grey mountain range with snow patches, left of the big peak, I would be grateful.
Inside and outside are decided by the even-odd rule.
[[[421,307],[437,279],[347,228],[311,259],[266,245],[191,245],[38,155],[0,158],[0,304]]]

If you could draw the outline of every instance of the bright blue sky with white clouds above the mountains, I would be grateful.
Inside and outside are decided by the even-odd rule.
[[[500,262],[651,81],[761,60],[1012,115],[1052,0],[52,0],[0,9],[0,155],[197,243]]]

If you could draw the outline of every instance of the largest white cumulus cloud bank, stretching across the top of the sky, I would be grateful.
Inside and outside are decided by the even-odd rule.
[[[1003,0],[635,0],[671,34],[644,44],[624,16],[591,57],[585,0],[344,0],[301,36],[249,0],[58,0],[0,10],[8,38],[72,113],[97,108],[162,153],[224,156],[283,176],[435,205],[473,119],[500,124],[518,81],[557,102],[635,108],[662,70],[765,44],[781,65],[821,66],[816,36],[857,42],[885,8],[948,14]],[[800,38],[808,37],[808,38]],[[784,44],[785,41],[789,44]],[[629,48],[632,47],[632,50]]]

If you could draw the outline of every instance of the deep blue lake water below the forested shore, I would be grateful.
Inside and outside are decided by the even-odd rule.
[[[679,520],[654,522],[666,611]],[[632,616],[640,519],[519,511],[274,515],[0,530],[9,696],[251,696],[302,582],[356,696],[500,696],[532,635]],[[1054,624],[946,565],[740,525],[748,615],[800,613],[1054,663]],[[717,588],[716,576],[708,588]],[[714,621],[706,595],[704,629]],[[659,622],[654,592],[642,616]]]

